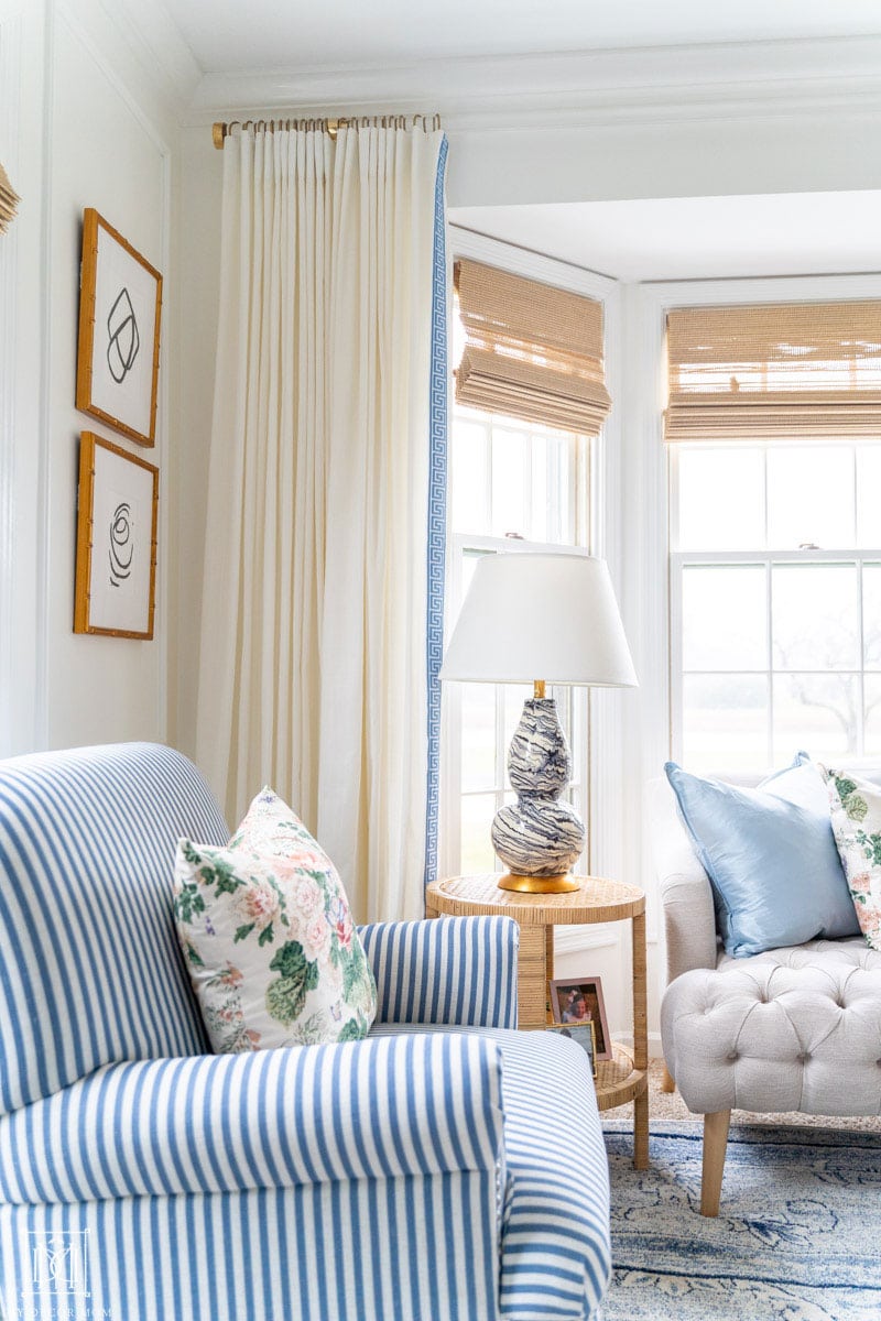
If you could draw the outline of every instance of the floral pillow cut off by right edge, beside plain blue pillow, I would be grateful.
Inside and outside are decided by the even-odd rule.
[[[826,777],[832,834],[860,930],[881,950],[881,785],[837,770]]]

